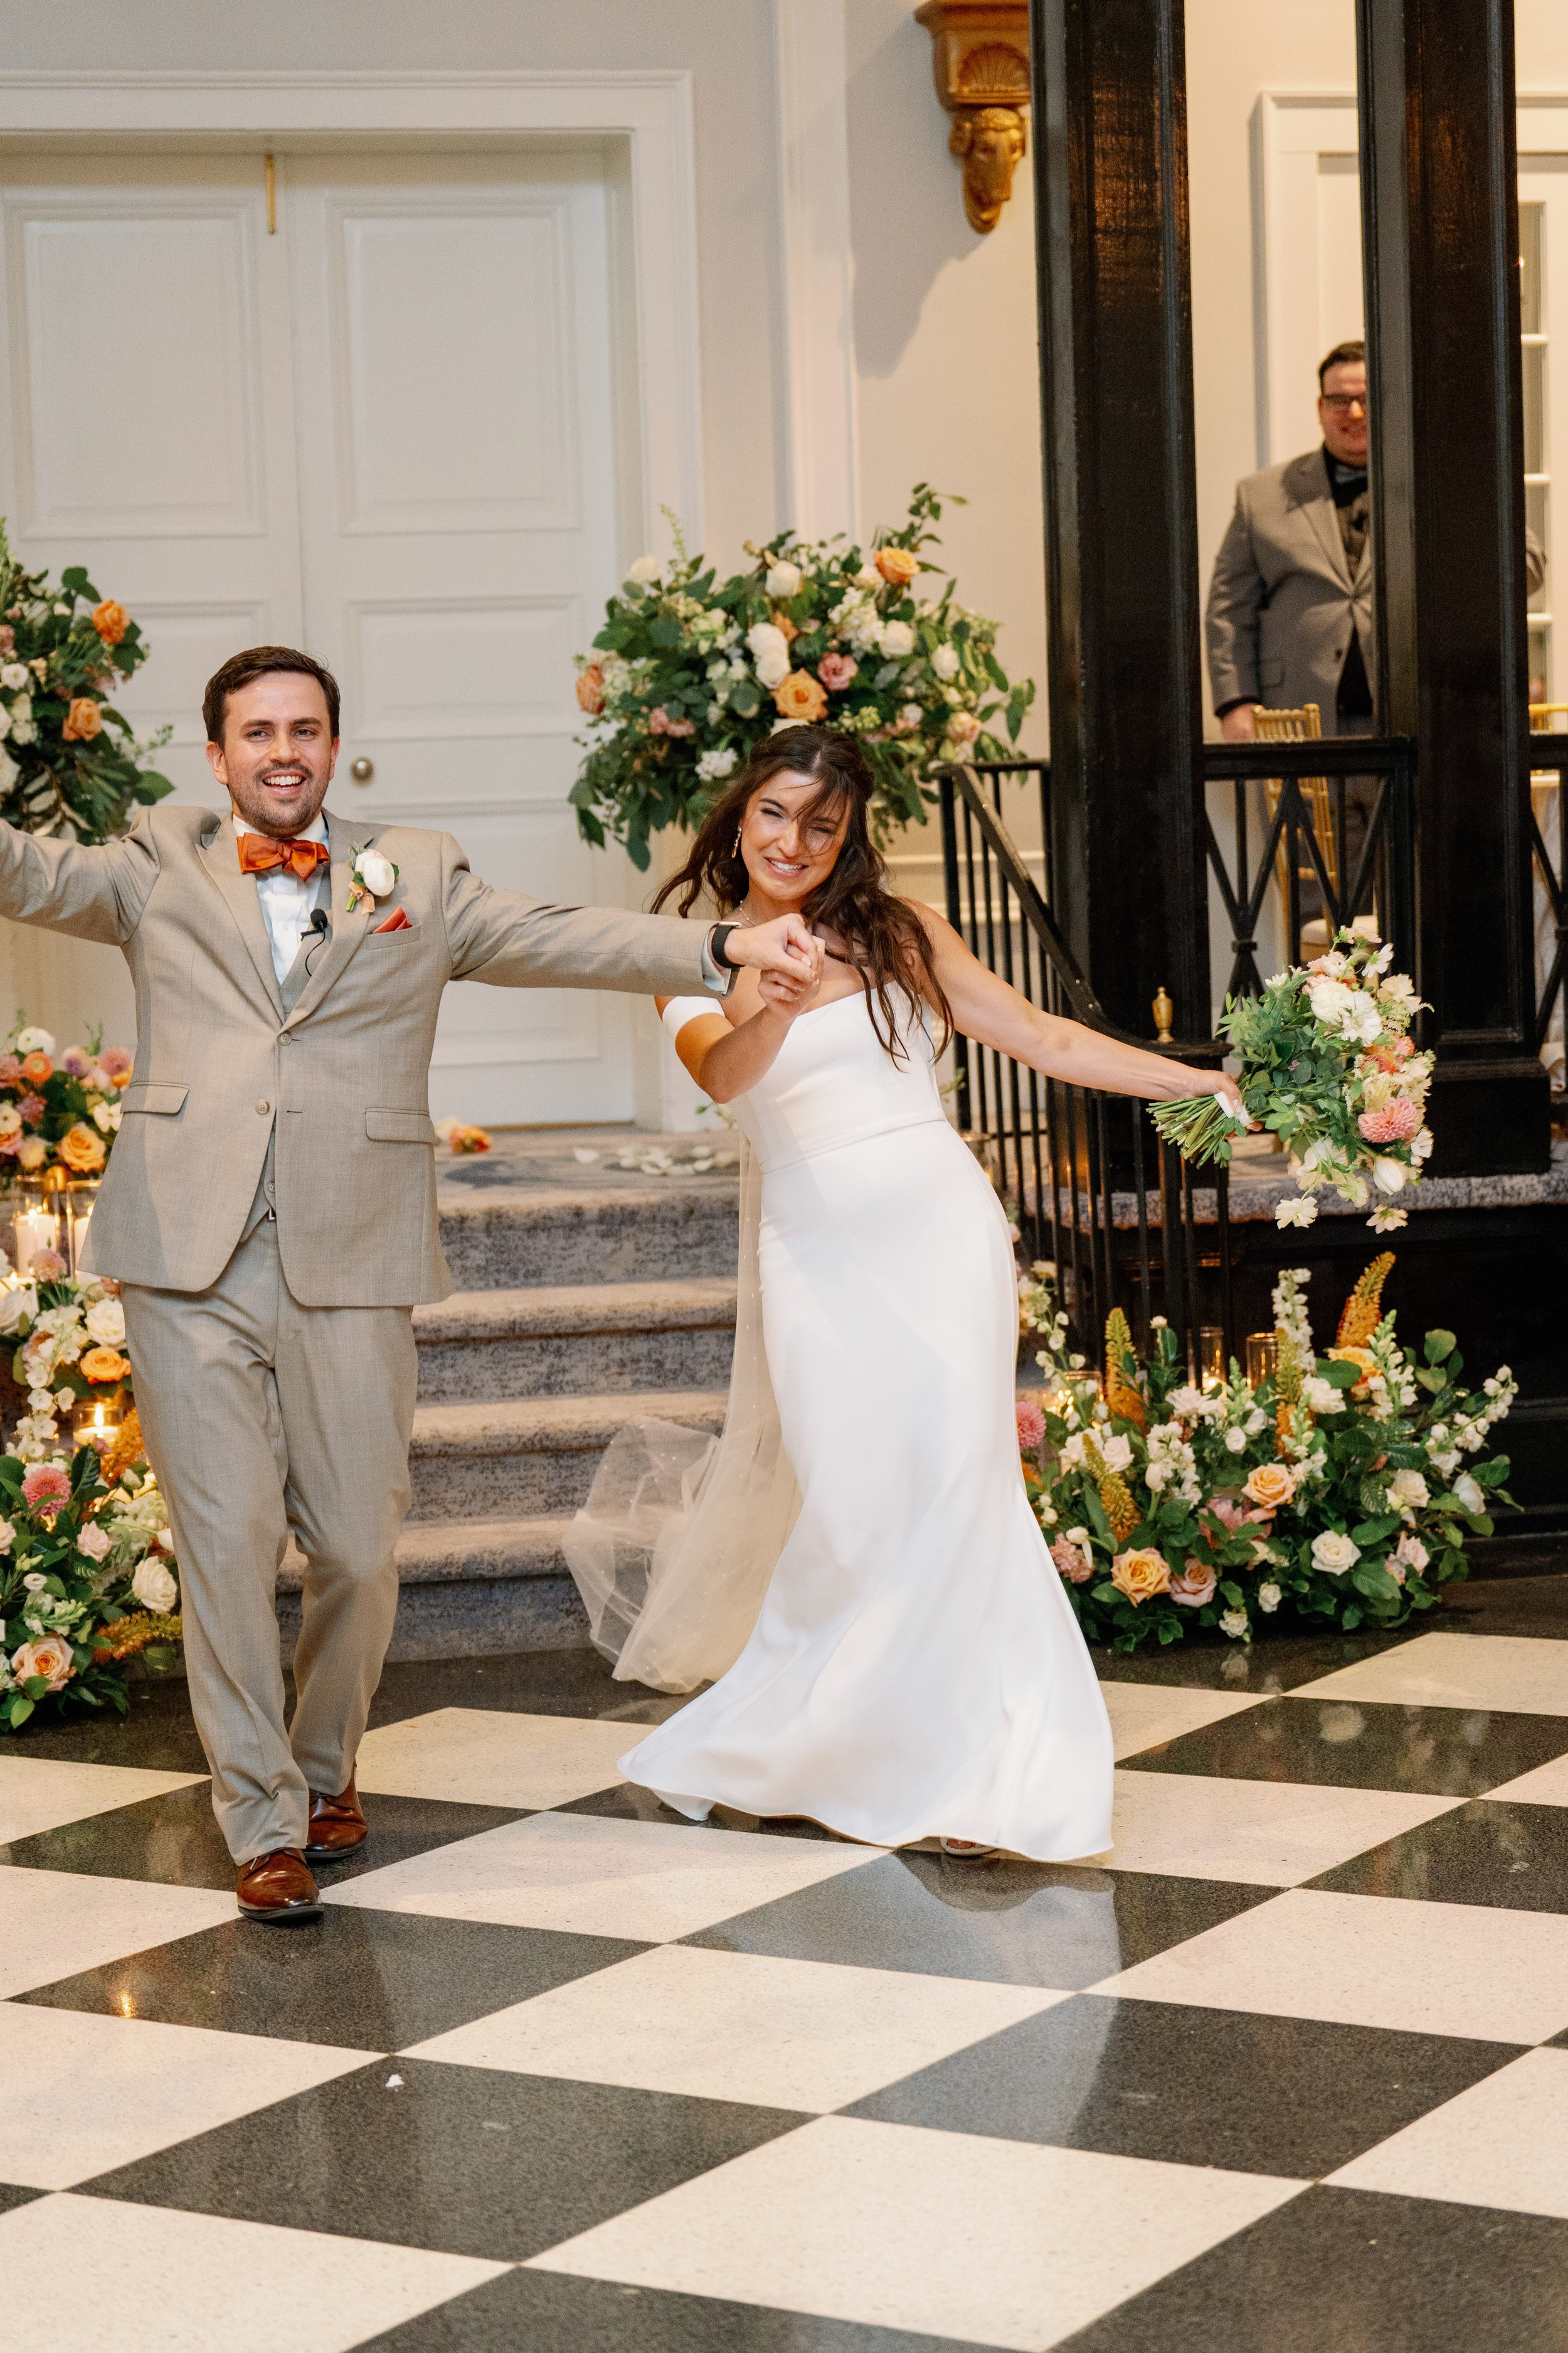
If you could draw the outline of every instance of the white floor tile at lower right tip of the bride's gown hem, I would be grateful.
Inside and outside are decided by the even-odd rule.
[[[1328,1781],[1119,1772],[1107,1868],[1295,1887],[1458,1802]]]

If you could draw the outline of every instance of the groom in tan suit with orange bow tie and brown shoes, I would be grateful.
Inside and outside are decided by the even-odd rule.
[[[550,906],[489,889],[449,833],[343,824],[322,807],[339,689],[308,654],[235,654],[202,708],[230,814],[141,809],[101,847],[0,826],[0,913],[113,941],[136,981],[92,1261],[122,1285],[240,1911],[299,1920],[310,1861],[367,1838],[353,1774],[397,1609],[411,1308],[451,1289],[425,1099],[447,981],[724,995],[741,962],[811,979],[820,951],[795,918]]]

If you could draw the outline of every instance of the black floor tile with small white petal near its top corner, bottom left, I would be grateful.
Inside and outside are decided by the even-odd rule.
[[[388,2089],[388,2075],[402,2085]],[[378,2059],[78,2193],[515,2264],[804,2122],[724,2099]]]

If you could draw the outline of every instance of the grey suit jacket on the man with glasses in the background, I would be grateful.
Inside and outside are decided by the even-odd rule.
[[[1526,532],[1530,591],[1544,574],[1544,551]],[[1316,704],[1324,734],[1335,734],[1352,628],[1375,687],[1373,546],[1368,539],[1352,579],[1321,449],[1237,482],[1204,626],[1215,711],[1237,701],[1286,711]]]

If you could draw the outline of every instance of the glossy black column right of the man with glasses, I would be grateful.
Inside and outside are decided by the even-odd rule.
[[[1359,0],[1380,725],[1415,736],[1434,1174],[1544,1169],[1512,0]],[[1561,584],[1559,591],[1561,593]]]

